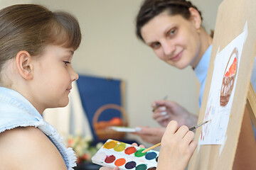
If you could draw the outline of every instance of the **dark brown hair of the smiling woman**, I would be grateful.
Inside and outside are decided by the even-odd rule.
[[[142,41],[141,30],[142,27],[148,23],[152,18],[158,16],[159,13],[168,11],[171,16],[181,15],[183,18],[188,19],[191,16],[189,8],[198,8],[194,6],[191,1],[186,0],[145,0],[142,3],[139,13],[136,18],[136,34]],[[201,11],[198,11],[201,16]],[[203,20],[202,16],[201,19]]]

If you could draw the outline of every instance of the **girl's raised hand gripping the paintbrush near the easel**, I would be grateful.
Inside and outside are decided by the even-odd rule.
[[[193,141],[194,133],[188,127],[181,126],[172,120],[164,132],[159,152],[158,170],[186,169],[193,152],[196,149],[196,141]]]

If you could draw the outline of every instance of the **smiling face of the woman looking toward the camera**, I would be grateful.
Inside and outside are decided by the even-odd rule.
[[[159,59],[183,69],[188,65],[196,67],[200,53],[200,24],[191,17],[170,16],[167,11],[160,13],[142,27],[142,38],[154,50]]]

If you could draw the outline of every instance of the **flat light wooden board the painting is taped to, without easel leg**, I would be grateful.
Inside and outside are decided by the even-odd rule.
[[[223,48],[240,35],[245,28],[245,23],[247,23],[248,34],[240,59],[239,74],[237,75],[237,83],[235,86],[233,105],[231,107],[230,120],[228,122],[228,129],[226,132],[225,145],[199,145],[191,158],[191,162],[188,166],[189,170],[233,169],[242,118],[250,87],[252,64],[255,57],[255,6],[255,0],[224,0],[218,8],[215,35],[213,38],[213,50],[210,57],[208,77],[206,79],[206,88],[203,94],[203,102],[198,117],[198,123],[203,122],[206,113],[211,78],[213,77],[214,61],[215,56],[218,54],[218,49],[219,51],[223,50]],[[255,98],[250,99],[250,103],[254,100]],[[251,111],[256,110],[255,105],[251,108]],[[198,130],[196,130],[195,137],[197,141],[200,134],[201,128],[198,128]]]

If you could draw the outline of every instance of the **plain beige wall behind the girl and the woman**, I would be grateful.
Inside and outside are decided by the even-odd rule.
[[[12,1],[13,4],[22,1]],[[23,1],[27,3],[29,1]],[[178,70],[161,62],[135,35],[135,16],[142,0],[31,0],[73,13],[80,21],[82,43],[73,67],[80,74],[124,79],[130,126],[158,124],[151,119],[151,102],[168,95],[192,113],[197,112],[196,76],[191,68]],[[221,0],[193,0],[203,13],[203,26],[214,29]],[[11,4],[0,0],[0,6]]]

